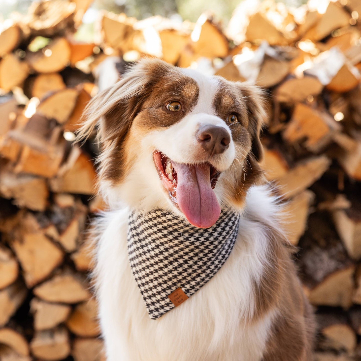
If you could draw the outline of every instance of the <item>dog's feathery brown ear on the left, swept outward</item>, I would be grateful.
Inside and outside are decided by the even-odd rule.
[[[124,138],[132,120],[151,91],[154,76],[164,73],[166,63],[144,58],[133,65],[113,87],[98,93],[87,104],[77,132],[77,141],[84,141],[97,129],[100,144]]]

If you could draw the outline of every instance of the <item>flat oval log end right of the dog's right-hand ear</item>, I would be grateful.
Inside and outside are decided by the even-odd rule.
[[[279,102],[302,102],[309,95],[321,93],[322,88],[323,85],[314,77],[290,78],[278,86],[275,96]]]

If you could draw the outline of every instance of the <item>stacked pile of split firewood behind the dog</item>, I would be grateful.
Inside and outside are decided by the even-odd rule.
[[[34,3],[0,29],[0,360],[104,360],[85,230],[106,206],[96,145],[72,143],[110,56],[120,77],[154,56],[265,89],[263,167],[317,309],[316,359],[361,360],[360,1],[246,1],[226,27],[104,12],[80,43],[90,2]]]

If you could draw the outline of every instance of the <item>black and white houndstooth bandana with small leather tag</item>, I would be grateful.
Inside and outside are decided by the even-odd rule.
[[[188,299],[219,271],[235,244],[239,218],[225,209],[216,224],[201,229],[164,210],[130,214],[129,262],[152,319]]]

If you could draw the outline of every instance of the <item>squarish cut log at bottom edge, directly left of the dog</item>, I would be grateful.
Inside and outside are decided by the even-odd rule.
[[[75,361],[105,361],[103,342],[97,338],[76,338],[72,356]]]

